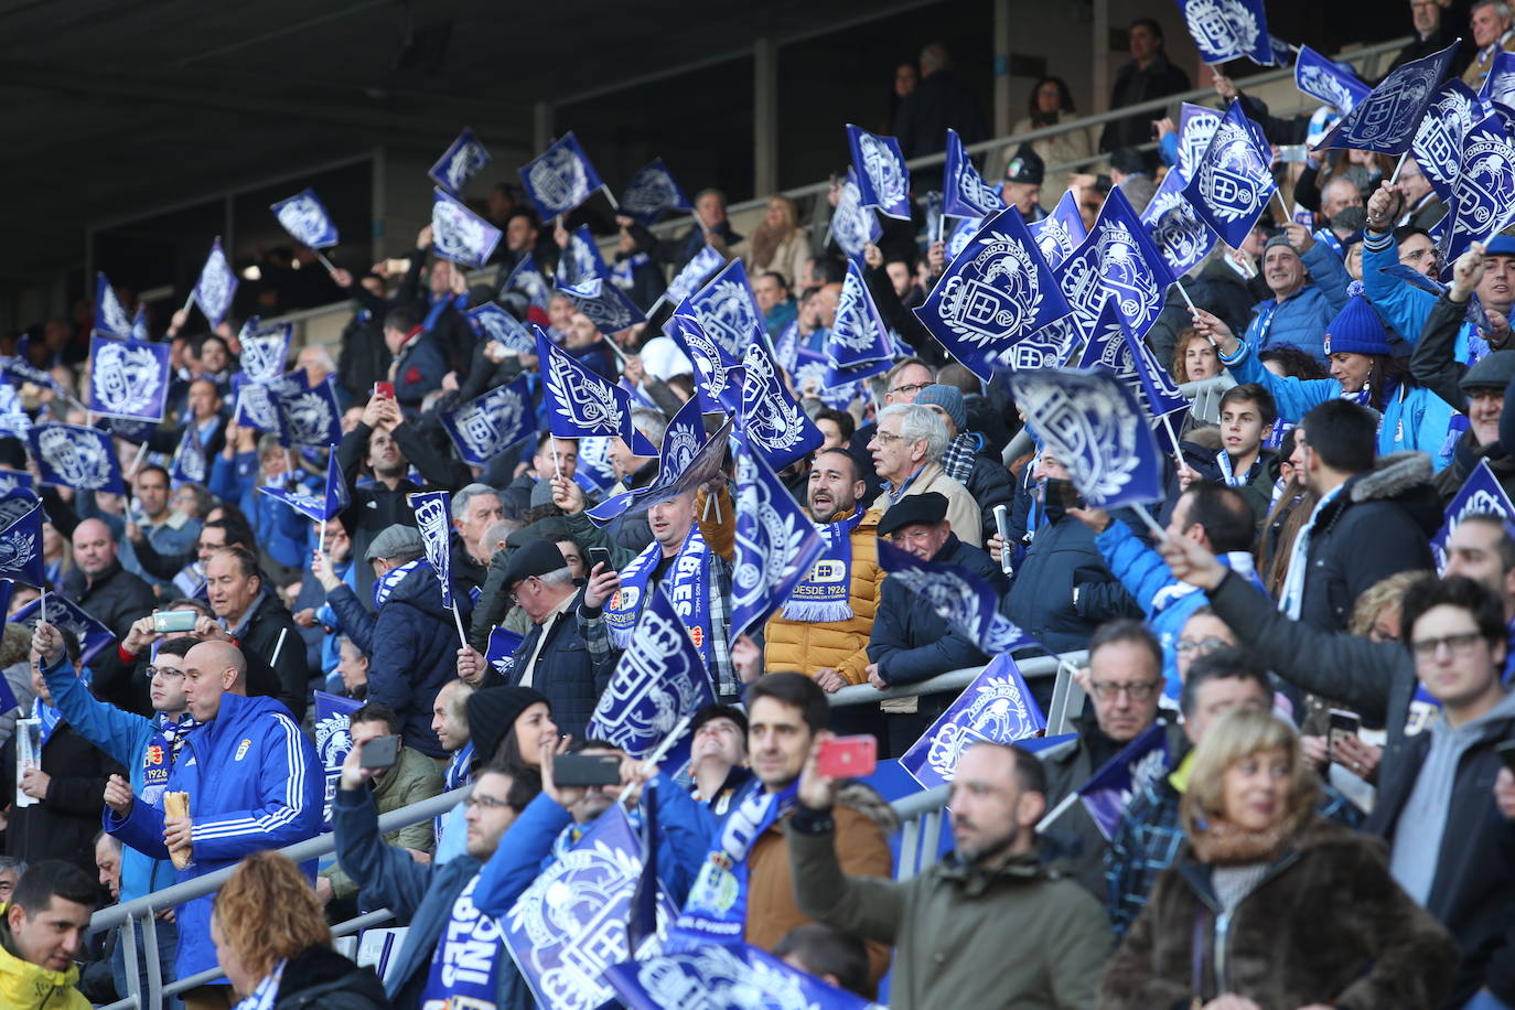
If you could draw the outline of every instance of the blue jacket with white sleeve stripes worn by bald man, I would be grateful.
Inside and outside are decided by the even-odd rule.
[[[315,745],[273,698],[221,695],[215,719],[186,737],[168,774],[170,792],[189,793],[194,863],[177,880],[235,866],[251,853],[283,848],[321,831],[324,777]],[[164,812],[133,803],[126,819],[106,807],[106,830],[153,859],[168,859]],[[303,865],[315,880],[315,860]],[[214,895],[179,909],[179,978],[217,966],[211,943]]]

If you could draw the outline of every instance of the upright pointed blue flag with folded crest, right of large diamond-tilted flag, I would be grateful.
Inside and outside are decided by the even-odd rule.
[[[1085,333],[1098,323],[1104,298],[1114,297],[1127,326],[1138,336],[1145,335],[1167,304],[1173,285],[1168,262],[1118,186],[1104,198],[1083,245],[1064,260],[1056,274],[1068,307]]]

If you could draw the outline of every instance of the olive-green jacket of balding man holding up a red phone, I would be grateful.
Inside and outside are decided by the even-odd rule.
[[[1109,922],[1035,848],[989,872],[950,854],[918,877],[873,880],[842,874],[832,831],[806,833],[801,821],[785,824],[795,902],[838,930],[894,943],[894,1010],[1095,1005]]]

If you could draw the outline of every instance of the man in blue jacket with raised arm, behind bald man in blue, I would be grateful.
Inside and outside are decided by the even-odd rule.
[[[129,651],[145,648],[155,637],[147,633],[144,639],[138,625],[152,618],[144,618],[132,625],[124,645]],[[41,625],[52,631],[52,625]],[[33,648],[42,653],[41,631],[33,636]],[[56,631],[53,631],[56,634]],[[47,639],[50,642],[50,639]],[[59,653],[58,660],[42,669],[47,678],[47,690],[53,697],[53,707],[64,716],[64,722],[74,727],[79,736],[85,737],[112,760],[130,771],[132,795],[141,796],[145,803],[161,806],[159,796],[168,784],[168,772],[173,768],[176,748],[174,742],[186,734],[194,725],[185,704],[183,694],[183,656],[194,645],[192,639],[183,637],[164,642],[153,660],[152,700],[156,715],[152,719],[132,712],[123,712],[115,706],[100,701],[89,694],[89,684],[82,677],[74,675],[65,653]],[[121,902],[141,898],[145,893],[167,887],[174,883],[174,865],[168,860],[158,860],[132,846],[121,848]],[[176,922],[155,922],[158,933],[158,954],[162,963],[164,978],[173,980],[174,952],[179,946],[179,927]],[[138,948],[142,948],[141,927],[138,927]],[[117,945],[111,957],[111,974],[115,980],[117,992],[126,992],[126,954],[123,945]],[[171,1001],[179,1005],[179,1001]]]

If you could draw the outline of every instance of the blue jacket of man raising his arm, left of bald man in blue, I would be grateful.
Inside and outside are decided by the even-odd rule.
[[[100,701],[89,694],[89,684],[83,677],[74,675],[74,668],[67,659],[59,659],[44,669],[42,677],[47,678],[47,690],[52,692],[53,706],[62,713],[64,722],[127,768],[132,775],[132,792],[141,796],[147,745],[162,727],[164,716],[147,719]],[[153,859],[132,846],[121,849],[121,901],[141,898],[171,883],[174,883],[173,863]]]

